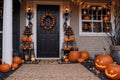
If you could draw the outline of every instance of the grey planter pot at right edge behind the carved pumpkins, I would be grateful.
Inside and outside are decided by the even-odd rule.
[[[113,57],[113,60],[117,64],[120,64],[120,46],[110,46],[110,50],[110,55]]]

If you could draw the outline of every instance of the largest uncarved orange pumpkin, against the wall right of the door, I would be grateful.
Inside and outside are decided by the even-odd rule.
[[[70,51],[69,53],[70,62],[76,62],[79,57],[80,53],[78,51]]]

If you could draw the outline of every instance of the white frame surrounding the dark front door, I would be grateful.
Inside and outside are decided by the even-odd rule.
[[[59,5],[60,11],[59,11],[59,57],[58,58],[38,58],[37,57],[37,5]],[[32,19],[33,22],[33,42],[34,42],[34,52],[35,52],[35,58],[36,59],[60,59],[61,53],[62,53],[62,45],[63,45],[63,38],[64,38],[64,32],[63,32],[63,2],[56,2],[56,1],[34,1],[33,2],[33,13],[34,17]]]

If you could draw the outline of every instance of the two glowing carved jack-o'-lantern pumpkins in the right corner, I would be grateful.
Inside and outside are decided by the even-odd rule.
[[[98,55],[95,58],[95,67],[99,71],[104,71],[112,80],[120,79],[120,65],[115,64],[110,55]]]

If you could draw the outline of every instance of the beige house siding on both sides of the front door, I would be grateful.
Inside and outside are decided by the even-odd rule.
[[[35,1],[42,1],[42,0],[35,0]],[[43,0],[48,1],[48,0]],[[56,1],[56,0],[51,0]],[[58,0],[61,2],[61,0]],[[63,0],[65,1],[65,0]],[[91,0],[86,0],[90,2]],[[108,2],[109,0],[92,0],[94,3],[104,3]],[[25,1],[26,2],[26,1]],[[21,31],[20,36],[22,36],[24,25],[25,25],[25,6],[26,4],[21,4]],[[24,7],[24,8],[23,8]],[[23,10],[24,9],[24,10]],[[104,36],[80,36],[79,35],[79,6],[75,5],[73,3],[70,3],[70,10],[71,10],[71,17],[70,17],[70,26],[72,27],[74,31],[74,36],[76,38],[77,46],[79,48],[79,51],[87,50],[90,53],[90,56],[94,58],[96,54],[101,53],[107,53],[109,54],[109,43],[107,42],[106,38]],[[106,48],[106,51],[103,50],[103,48]]]

